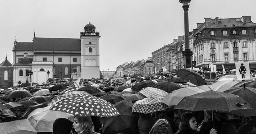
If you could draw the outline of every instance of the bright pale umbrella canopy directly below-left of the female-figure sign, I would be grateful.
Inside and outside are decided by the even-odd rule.
[[[239,83],[240,80],[226,80],[226,81],[217,81],[216,83],[212,84],[212,90],[223,92],[228,90],[230,87],[234,86],[236,83]]]

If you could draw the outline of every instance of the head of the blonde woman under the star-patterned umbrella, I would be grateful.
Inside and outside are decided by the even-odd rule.
[[[86,132],[88,130],[94,130],[91,116],[75,115],[73,127],[75,128],[76,132]]]

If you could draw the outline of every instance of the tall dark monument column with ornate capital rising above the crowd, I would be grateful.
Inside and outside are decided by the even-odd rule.
[[[191,56],[193,52],[189,48],[189,25],[188,25],[188,8],[189,2],[191,0],[179,0],[180,3],[183,3],[183,10],[184,10],[184,32],[185,32],[185,51],[183,51],[183,56],[185,57],[185,68],[190,68],[192,66]]]

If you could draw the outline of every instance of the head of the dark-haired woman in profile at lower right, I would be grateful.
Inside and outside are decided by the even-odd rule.
[[[190,131],[197,129],[197,122],[192,113],[183,113],[180,118],[180,130]]]

